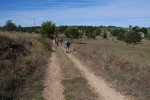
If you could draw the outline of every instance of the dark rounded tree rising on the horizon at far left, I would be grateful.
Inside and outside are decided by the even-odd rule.
[[[15,31],[17,29],[17,26],[12,22],[12,20],[8,20],[4,26],[4,29],[6,31]]]

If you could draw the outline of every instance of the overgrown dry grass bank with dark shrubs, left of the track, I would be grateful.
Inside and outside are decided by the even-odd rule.
[[[0,32],[1,100],[41,98],[48,48],[37,34]]]

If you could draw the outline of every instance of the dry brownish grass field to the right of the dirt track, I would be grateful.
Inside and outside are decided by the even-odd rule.
[[[110,87],[135,100],[150,98],[150,41],[126,45],[115,39],[75,40],[73,54]]]

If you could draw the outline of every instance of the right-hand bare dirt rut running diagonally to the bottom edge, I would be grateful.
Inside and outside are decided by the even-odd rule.
[[[131,100],[124,97],[120,93],[116,92],[114,89],[110,88],[102,77],[96,76],[92,71],[90,71],[86,66],[84,66],[78,59],[73,55],[67,54],[67,56],[72,60],[75,66],[81,71],[84,77],[88,80],[89,85],[94,89],[94,91],[99,95],[102,100]]]

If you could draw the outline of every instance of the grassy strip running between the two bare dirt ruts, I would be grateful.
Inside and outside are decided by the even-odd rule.
[[[61,59],[63,57],[63,59]],[[65,56],[63,51],[58,51],[60,65],[64,79],[64,95],[66,100],[98,100],[97,95],[87,83],[87,80],[81,75],[79,70],[75,68],[73,63]]]

